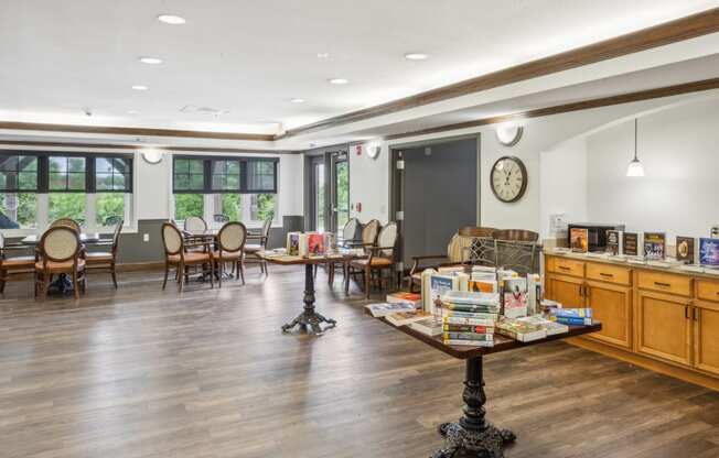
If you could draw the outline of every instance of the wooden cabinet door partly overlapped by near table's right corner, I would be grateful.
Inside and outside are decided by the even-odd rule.
[[[632,348],[632,288],[608,283],[587,282],[587,306],[602,323],[602,330],[588,335],[623,348]]]

